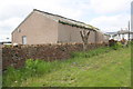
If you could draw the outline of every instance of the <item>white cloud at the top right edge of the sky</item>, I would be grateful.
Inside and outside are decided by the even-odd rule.
[[[91,8],[96,13],[111,13],[130,9],[131,0],[91,0]]]

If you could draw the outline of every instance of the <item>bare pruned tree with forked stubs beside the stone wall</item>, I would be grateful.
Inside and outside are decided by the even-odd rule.
[[[88,39],[89,39],[90,31],[89,30],[82,30],[82,31],[80,31],[80,34],[81,34],[81,38],[82,38],[82,41],[83,41],[83,51],[86,51]]]

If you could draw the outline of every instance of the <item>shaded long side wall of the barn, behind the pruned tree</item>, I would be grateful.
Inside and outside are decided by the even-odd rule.
[[[59,42],[82,42],[82,38],[80,34],[81,30],[76,27],[71,27],[68,24],[59,23],[58,31],[58,40]],[[104,34],[100,31],[91,31],[89,36],[89,43],[102,43],[108,42],[108,38],[105,39]]]

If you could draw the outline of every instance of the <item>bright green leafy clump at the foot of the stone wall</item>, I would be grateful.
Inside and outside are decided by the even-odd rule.
[[[54,66],[55,62],[43,60],[29,59],[25,61],[25,70],[29,70],[31,72],[31,76],[41,76],[43,73],[50,72]]]

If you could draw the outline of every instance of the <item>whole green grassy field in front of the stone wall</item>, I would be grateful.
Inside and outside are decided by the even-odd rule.
[[[29,59],[3,73],[4,87],[130,87],[131,47],[73,52],[69,60]]]

